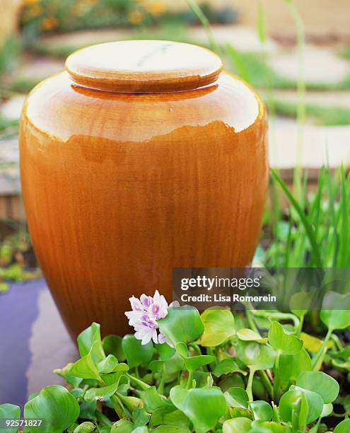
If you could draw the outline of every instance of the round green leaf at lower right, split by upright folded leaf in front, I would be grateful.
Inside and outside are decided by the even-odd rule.
[[[306,400],[308,400],[308,420],[307,424],[317,420],[321,415],[323,409],[323,400],[321,396],[313,391],[308,391],[303,388],[291,386],[289,391],[284,393],[279,402],[279,412],[282,420],[285,422],[292,422],[293,409],[296,403],[301,403],[302,393],[305,394]]]

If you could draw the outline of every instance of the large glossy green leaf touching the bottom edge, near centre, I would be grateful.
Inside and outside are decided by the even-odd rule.
[[[196,432],[213,429],[226,412],[226,400],[220,388],[184,389],[174,386],[170,399],[192,421]]]

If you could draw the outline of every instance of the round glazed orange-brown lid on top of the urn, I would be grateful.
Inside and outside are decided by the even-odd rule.
[[[66,59],[66,71],[76,84],[123,93],[194,90],[214,83],[222,69],[214,52],[164,40],[107,42]]]

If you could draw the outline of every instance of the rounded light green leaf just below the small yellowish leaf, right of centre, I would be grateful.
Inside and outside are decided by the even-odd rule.
[[[267,345],[238,340],[236,352],[240,360],[252,369],[266,370],[274,366],[276,352]]]

